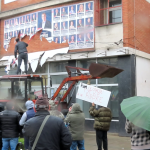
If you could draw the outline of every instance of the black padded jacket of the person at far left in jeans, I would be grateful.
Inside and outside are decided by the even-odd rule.
[[[17,138],[20,133],[20,114],[13,110],[4,110],[0,113],[0,130],[2,138]]]

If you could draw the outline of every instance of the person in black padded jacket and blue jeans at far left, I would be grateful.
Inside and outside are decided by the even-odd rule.
[[[6,110],[0,113],[0,129],[2,131],[2,150],[15,150],[20,133],[20,114],[13,110],[11,102],[6,104]]]

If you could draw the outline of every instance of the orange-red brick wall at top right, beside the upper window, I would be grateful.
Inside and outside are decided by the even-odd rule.
[[[124,46],[150,53],[150,3],[146,0],[122,0],[122,14]]]

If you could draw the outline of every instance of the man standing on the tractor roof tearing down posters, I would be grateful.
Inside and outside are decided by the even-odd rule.
[[[22,59],[24,60],[25,73],[27,74],[28,51],[27,51],[26,47],[28,46],[28,44],[25,42],[19,41],[19,38],[16,38],[16,42],[17,42],[17,44],[15,45],[15,51],[14,51],[16,59],[17,59],[17,52],[19,53],[17,74],[19,74],[21,72],[20,66],[22,63]]]

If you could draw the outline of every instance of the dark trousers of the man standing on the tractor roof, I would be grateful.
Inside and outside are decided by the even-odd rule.
[[[20,53],[19,54],[17,74],[21,72],[20,66],[21,66],[22,60],[24,60],[25,73],[27,74],[28,53]]]

